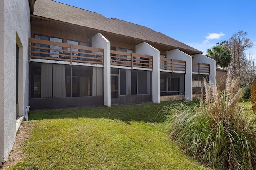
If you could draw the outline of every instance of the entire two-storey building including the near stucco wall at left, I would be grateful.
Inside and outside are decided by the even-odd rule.
[[[52,0],[14,2],[0,1],[0,162],[15,140],[17,94],[22,116],[28,105],[191,101],[203,78],[215,83],[214,60],[160,32]]]

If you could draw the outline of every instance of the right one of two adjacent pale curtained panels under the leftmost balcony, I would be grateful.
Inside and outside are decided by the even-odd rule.
[[[53,97],[66,97],[65,65],[53,65]]]

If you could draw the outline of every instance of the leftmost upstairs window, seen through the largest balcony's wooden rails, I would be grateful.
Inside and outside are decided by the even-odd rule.
[[[41,36],[41,35],[34,35],[34,38],[40,39],[40,40],[47,40],[47,41],[52,41],[52,42],[63,42],[61,38],[54,38],[54,37],[49,37],[49,36]],[[60,50],[62,50],[62,47],[56,46],[56,45],[46,45],[46,44],[39,44],[35,43],[35,46],[38,47],[43,47],[43,48],[50,48],[50,49],[43,49],[43,48],[35,48],[34,51],[40,51],[41,53],[35,53],[34,55],[36,56],[41,56],[41,57],[54,57],[58,58],[59,55],[54,55],[54,54],[47,54],[47,53],[59,53]]]

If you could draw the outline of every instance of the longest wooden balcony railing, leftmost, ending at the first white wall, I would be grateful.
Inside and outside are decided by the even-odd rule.
[[[104,49],[29,38],[30,59],[104,65]]]

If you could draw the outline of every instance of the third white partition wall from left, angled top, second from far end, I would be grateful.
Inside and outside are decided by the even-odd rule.
[[[185,99],[192,101],[192,57],[178,49],[173,49],[166,52],[166,58],[186,61]]]

